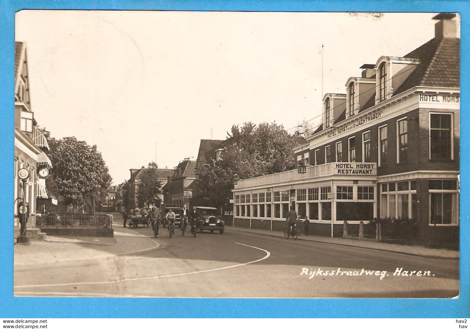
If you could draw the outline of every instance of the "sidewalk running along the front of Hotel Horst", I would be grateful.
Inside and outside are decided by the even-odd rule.
[[[256,229],[256,228],[245,228],[245,227],[234,227],[234,226],[226,226],[225,229],[227,231],[241,231],[241,232],[249,232],[253,234],[259,235],[269,235],[269,236],[276,236],[284,238],[284,233],[280,231],[268,231],[263,229]],[[351,246],[356,248],[364,248],[364,249],[373,249],[379,251],[389,251],[389,252],[396,252],[405,255],[413,255],[425,258],[440,258],[440,259],[459,259],[460,252],[456,250],[448,250],[448,249],[431,249],[426,248],[424,246],[407,246],[407,245],[400,245],[400,244],[392,244],[392,243],[377,243],[374,241],[365,241],[365,240],[354,240],[354,239],[345,239],[345,238],[332,238],[328,236],[320,236],[320,235],[300,235],[297,240],[303,241],[312,241],[312,242],[320,242],[320,243],[329,243],[329,244],[337,244],[337,245],[344,245],[344,246]]]

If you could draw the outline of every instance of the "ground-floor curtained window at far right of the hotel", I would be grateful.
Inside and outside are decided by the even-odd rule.
[[[457,225],[457,181],[429,180],[429,208],[430,225]]]

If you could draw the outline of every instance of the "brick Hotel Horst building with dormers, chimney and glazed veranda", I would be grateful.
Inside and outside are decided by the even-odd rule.
[[[417,241],[458,241],[460,39],[454,14],[434,19],[433,39],[324,95],[322,125],[294,149],[305,173],[238,181],[235,226],[283,230],[293,205],[316,235],[401,217],[417,220]]]

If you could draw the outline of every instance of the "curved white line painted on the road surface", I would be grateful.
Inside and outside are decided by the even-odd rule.
[[[271,256],[271,253],[267,250],[264,250],[264,249],[261,249],[261,248],[258,248],[258,247],[254,247],[254,246],[249,246],[248,244],[243,244],[243,243],[238,243],[238,242],[235,242],[235,243],[236,244],[241,244],[245,247],[255,248],[255,249],[264,251],[264,252],[266,252],[266,256],[263,257],[263,258],[252,260],[251,262],[247,262],[247,263],[235,264],[235,265],[231,265],[231,266],[213,268],[211,270],[202,270],[202,271],[195,271],[195,272],[188,272],[188,273],[157,275],[157,276],[151,276],[151,277],[146,277],[146,278],[131,278],[131,279],[121,279],[121,280],[115,280],[115,281],[102,281],[102,282],[71,282],[71,283],[53,283],[53,284],[30,284],[30,285],[15,286],[15,288],[59,287],[59,286],[83,285],[83,284],[110,284],[110,283],[120,283],[120,282],[130,282],[130,281],[161,279],[161,278],[168,278],[168,277],[174,277],[174,276],[182,276],[182,275],[190,275],[190,274],[198,274],[198,273],[206,273],[206,272],[225,270],[225,269],[228,269],[228,268],[233,268],[233,267],[238,267],[238,266],[243,266],[243,265],[248,265],[248,264],[253,264],[253,263],[256,263],[256,262],[260,262],[261,260],[264,260],[264,259],[268,258],[269,256]],[[17,293],[22,293],[22,292],[17,292]]]

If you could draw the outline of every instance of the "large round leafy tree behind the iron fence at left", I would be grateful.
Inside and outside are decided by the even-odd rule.
[[[111,176],[96,145],[89,146],[75,137],[51,139],[49,158],[53,178],[64,204],[75,211],[86,204],[94,212],[95,201],[100,199],[111,183]]]

